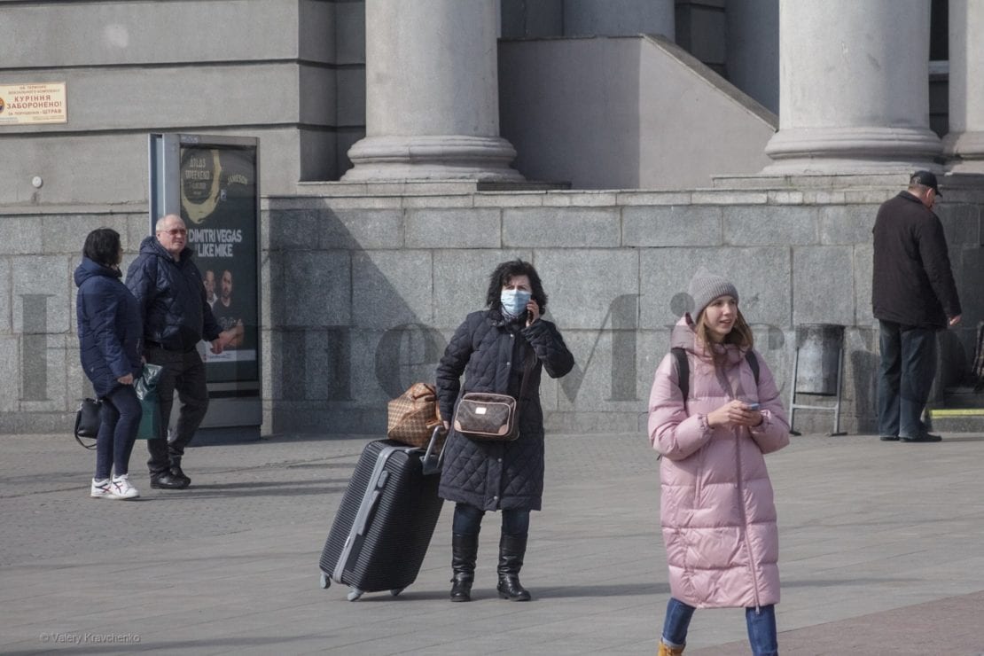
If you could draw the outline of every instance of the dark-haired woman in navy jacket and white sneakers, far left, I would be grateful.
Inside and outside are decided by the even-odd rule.
[[[133,382],[143,370],[140,342],[144,328],[137,299],[120,280],[122,259],[119,233],[98,228],[86,237],[82,264],[75,269],[82,368],[102,400],[90,491],[93,499],[140,496],[130,484],[129,463],[143,414]],[[111,469],[115,469],[112,479]]]

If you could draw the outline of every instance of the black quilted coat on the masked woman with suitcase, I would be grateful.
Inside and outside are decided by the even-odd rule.
[[[509,324],[495,310],[467,316],[451,338],[437,368],[441,416],[453,417],[466,391],[520,393],[524,358],[536,363],[521,400],[520,437],[515,442],[473,442],[454,428],[444,450],[439,494],[483,510],[538,510],[543,497],[543,410],[540,372],[560,378],[574,367],[560,331],[537,320],[528,328]],[[464,388],[461,389],[461,374]]]

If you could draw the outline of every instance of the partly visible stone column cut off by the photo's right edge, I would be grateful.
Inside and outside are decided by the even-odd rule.
[[[953,173],[984,173],[984,3],[950,0],[950,133]]]

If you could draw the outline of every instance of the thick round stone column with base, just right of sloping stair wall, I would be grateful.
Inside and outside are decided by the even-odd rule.
[[[930,0],[779,0],[779,131],[766,174],[936,168]]]

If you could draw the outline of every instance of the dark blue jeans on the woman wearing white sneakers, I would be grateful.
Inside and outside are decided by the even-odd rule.
[[[121,385],[102,397],[99,433],[95,436],[95,479],[129,473],[130,453],[144,410],[132,385]]]

